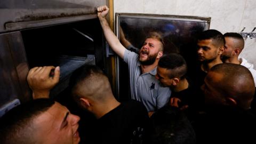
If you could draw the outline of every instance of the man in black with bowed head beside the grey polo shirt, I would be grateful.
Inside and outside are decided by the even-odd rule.
[[[186,73],[186,61],[181,55],[172,53],[159,60],[156,78],[163,86],[170,87],[172,90],[171,106],[181,109],[199,107],[204,101],[202,98],[197,98],[196,90],[188,81]]]

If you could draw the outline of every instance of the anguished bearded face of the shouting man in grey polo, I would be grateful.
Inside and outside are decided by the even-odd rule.
[[[155,38],[147,38],[140,49],[140,62],[146,65],[151,65],[159,57],[158,53],[161,49],[162,43]],[[161,55],[162,56],[162,55]],[[159,57],[160,58],[160,57]],[[158,59],[159,59],[158,58]]]

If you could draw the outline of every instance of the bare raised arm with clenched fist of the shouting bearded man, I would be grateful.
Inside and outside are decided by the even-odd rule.
[[[108,7],[106,5],[100,6],[97,8],[98,18],[100,20],[101,27],[103,29],[103,33],[105,38],[107,39],[108,44],[115,51],[119,57],[124,58],[125,47],[119,42],[119,39],[113,33],[111,28],[109,27],[108,21],[106,19],[106,15],[108,14]]]

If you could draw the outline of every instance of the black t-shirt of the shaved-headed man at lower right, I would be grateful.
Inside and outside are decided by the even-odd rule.
[[[238,107],[209,106],[194,125],[197,143],[256,143],[255,115]]]

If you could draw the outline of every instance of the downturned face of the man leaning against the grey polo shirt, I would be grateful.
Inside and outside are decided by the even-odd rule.
[[[157,74],[155,77],[164,87],[172,86],[172,78],[169,78],[168,73],[170,73],[170,70],[159,66],[157,67]]]

